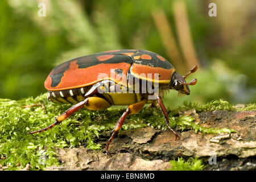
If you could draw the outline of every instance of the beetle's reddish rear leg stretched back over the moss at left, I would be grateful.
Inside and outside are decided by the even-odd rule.
[[[53,126],[61,123],[62,121],[64,121],[66,118],[68,118],[69,116],[71,116],[72,114],[74,114],[76,111],[82,109],[82,107],[84,107],[84,105],[88,102],[88,98],[86,98],[84,101],[79,102],[78,104],[72,106],[71,108],[69,108],[68,110],[66,110],[64,113],[62,113],[61,115],[59,115],[59,117],[57,117],[55,119],[55,122],[52,123],[51,125],[45,127],[44,129],[41,130],[37,130],[37,131],[32,131],[30,133],[27,134],[35,134],[35,133],[40,133],[42,131],[46,131],[51,129]]]

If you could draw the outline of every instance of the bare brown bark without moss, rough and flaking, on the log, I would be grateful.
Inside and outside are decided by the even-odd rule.
[[[195,110],[179,115],[191,115],[204,127],[230,128],[237,133],[220,135],[177,128],[180,136],[170,131],[143,127],[122,131],[110,145],[110,155],[101,151],[79,148],[56,148],[60,166],[48,170],[167,170],[170,160],[182,157],[203,159],[205,170],[256,169],[256,111],[209,111],[197,114]],[[110,132],[102,133],[97,143],[105,146]]]

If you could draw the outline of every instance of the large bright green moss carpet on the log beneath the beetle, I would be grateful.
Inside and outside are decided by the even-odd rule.
[[[44,104],[47,113],[40,106],[22,107],[36,103]],[[86,144],[87,148],[100,150],[101,145],[94,142],[95,139],[102,132],[111,131],[118,118],[125,111],[125,107],[119,107],[119,109],[114,107],[98,111],[82,109],[51,130],[40,134],[27,135],[30,131],[42,129],[53,123],[54,119],[70,106],[48,102],[46,94],[36,98],[24,98],[19,101],[0,99],[0,156],[5,156],[6,158],[5,160],[0,160],[0,164],[3,166],[8,165],[8,169],[15,170],[24,168],[27,163],[30,163],[32,170],[38,170],[59,164],[54,151],[55,147],[77,147]],[[191,102],[185,103],[184,106],[176,110],[168,110],[170,126],[174,129],[175,127],[181,127],[183,130],[192,129],[203,133],[235,132],[232,129],[201,127],[194,122],[194,118],[177,114],[179,110],[191,108],[195,108],[198,112],[212,111],[213,109],[233,109],[226,101],[222,100],[213,101],[202,106]],[[245,107],[247,110],[254,108],[255,105]],[[149,109],[144,107],[141,112],[131,115],[127,119],[122,130],[146,126],[167,129],[163,114],[159,108]],[[19,164],[19,166],[17,167],[16,164]]]

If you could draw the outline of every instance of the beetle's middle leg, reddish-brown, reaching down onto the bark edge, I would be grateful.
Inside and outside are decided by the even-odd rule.
[[[108,143],[106,144],[106,153],[107,153],[107,155],[109,154],[109,144],[111,143],[111,141],[113,140],[115,135],[117,135],[118,131],[121,129],[121,127],[122,127],[123,123],[125,122],[125,119],[127,118],[127,116],[138,113],[143,108],[143,106],[145,104],[146,104],[146,100],[142,100],[141,102],[137,102],[137,103],[127,107],[125,112],[119,118],[119,120],[117,122],[117,125],[115,125],[114,129],[112,130],[112,135],[109,138]]]

